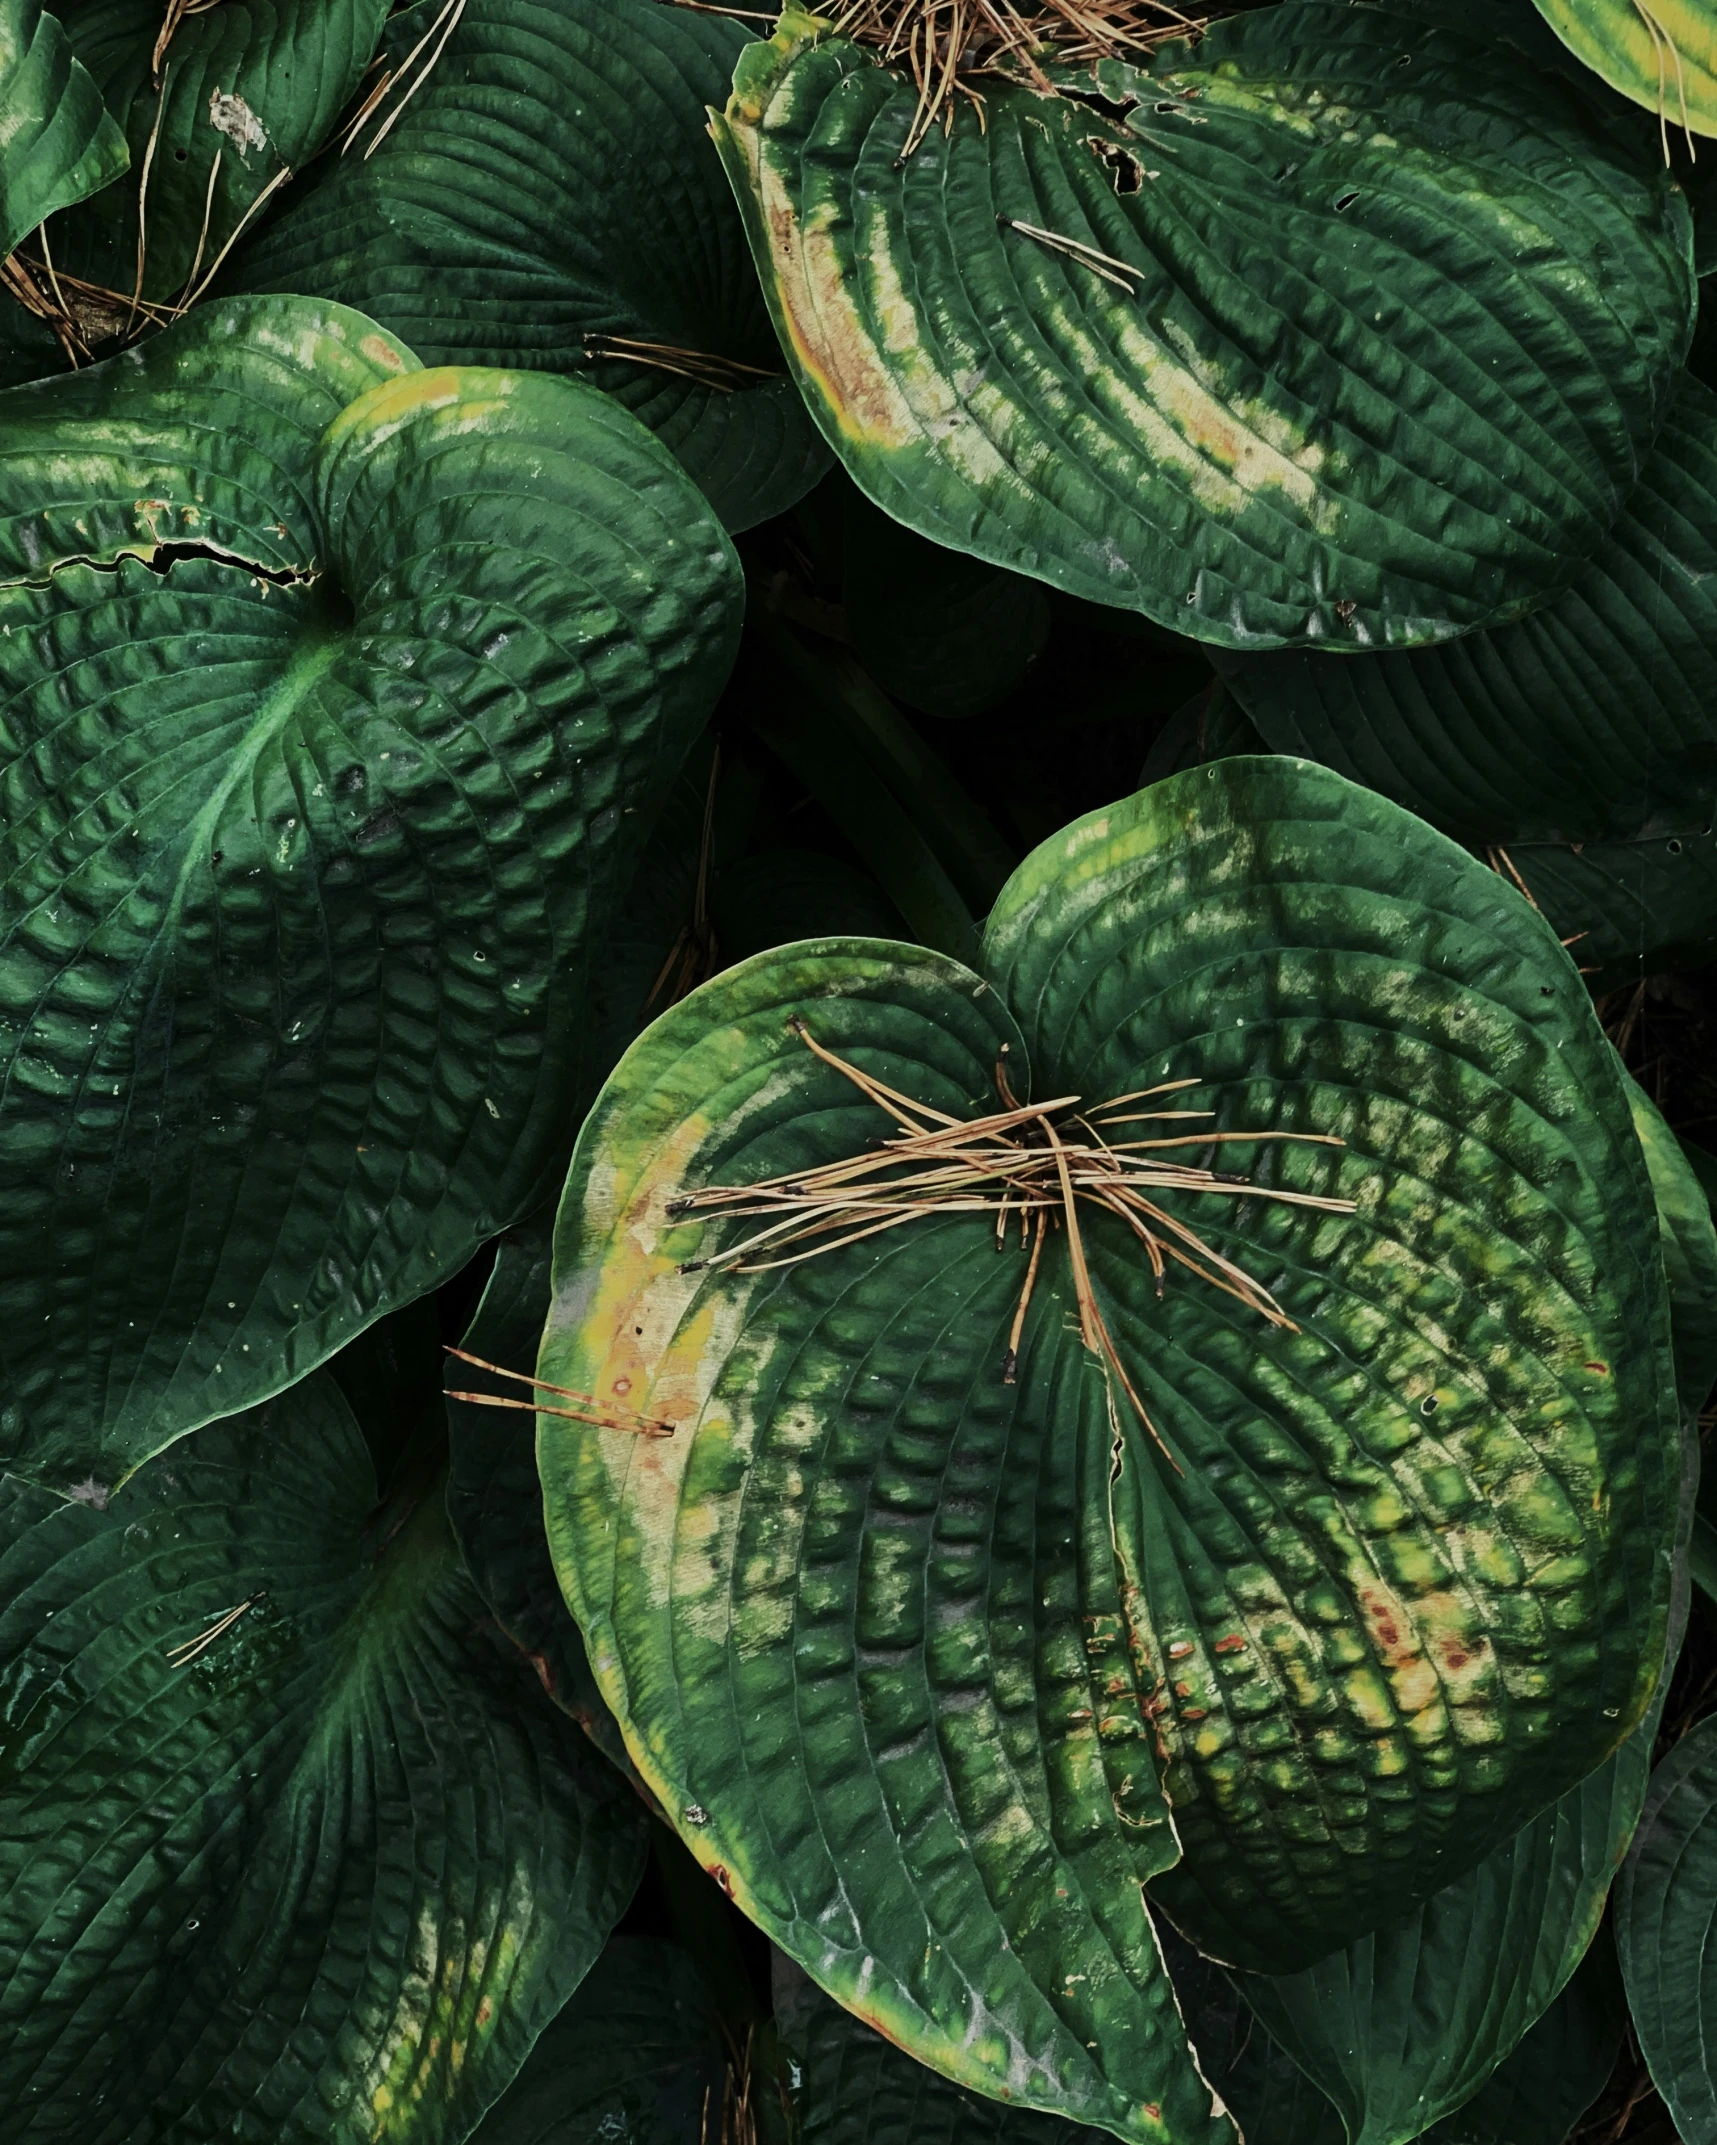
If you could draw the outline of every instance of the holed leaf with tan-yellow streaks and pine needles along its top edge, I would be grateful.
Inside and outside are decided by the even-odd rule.
[[[1337,0],[1095,75],[985,79],[981,129],[906,157],[916,90],[869,49],[790,9],[740,54],[717,142],[878,506],[1223,646],[1419,646],[1562,588],[1691,330],[1644,131]]]

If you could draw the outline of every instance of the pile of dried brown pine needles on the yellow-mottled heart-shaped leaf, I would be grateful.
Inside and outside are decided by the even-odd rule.
[[[773,1272],[931,1214],[994,1214],[996,1251],[1004,1251],[1009,1225],[1017,1214],[1019,1242],[1022,1248],[1028,1246],[1028,1263],[1002,1356],[1002,1379],[1013,1384],[1043,1242],[1052,1229],[1060,1229],[1067,1233],[1080,1338],[1103,1364],[1105,1375],[1118,1379],[1140,1422],[1159,1446],[1161,1437],[1157,1437],[1144,1401],[1133,1390],[1097,1302],[1080,1229],[1082,1203],[1127,1223],[1144,1248],[1159,1298],[1165,1289],[1168,1268],[1174,1263],[1208,1287],[1236,1298],[1271,1326],[1290,1332],[1296,1330],[1294,1321],[1275,1296],[1256,1283],[1245,1268],[1206,1244],[1193,1227],[1165,1212],[1153,1195],[1208,1193],[1226,1199],[1271,1199],[1277,1205],[1303,1205],[1322,1214],[1354,1212],[1352,1199],[1326,1199],[1320,1193],[1251,1184],[1234,1171],[1180,1160],[1176,1152],[1217,1141],[1346,1145],[1331,1133],[1206,1130],[1110,1143],[1099,1130],[1099,1124],[1142,1124],[1161,1118],[1185,1122],[1208,1115],[1208,1111],[1185,1109],[1118,1113],[1120,1105],[1176,1094],[1183,1088],[1195,1088],[1198,1079],[1161,1081],[1157,1088],[1112,1096],[1092,1111],[1080,1113],[1077,1094],[1054,1096],[1047,1103],[1019,1103],[1009,1085],[1007,1064],[998,1060],[996,1094],[1009,1107],[987,1118],[959,1120],[925,1103],[914,1103],[897,1088],[884,1085],[861,1066],[839,1057],[816,1040],[805,1021],[794,1017],[788,1027],[822,1064],[841,1072],[869,1103],[882,1109],[895,1122],[897,1135],[867,1154],[822,1163],[818,1169],[801,1169],[758,1184],[704,1184],[695,1193],[670,1201],[670,1216],[715,1214],[725,1221],[764,1223],[723,1251],[685,1261],[680,1272]],[[1077,1133],[1084,1137],[1069,1137]]]

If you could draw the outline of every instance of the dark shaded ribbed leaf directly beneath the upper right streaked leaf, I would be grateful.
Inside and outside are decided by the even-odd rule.
[[[1464,841],[1687,837],[1717,802],[1715,592],[1717,395],[1689,375],[1614,530],[1545,609],[1442,648],[1221,669],[1273,751]]]

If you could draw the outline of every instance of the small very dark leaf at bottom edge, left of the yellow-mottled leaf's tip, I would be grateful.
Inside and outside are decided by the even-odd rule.
[[[691,1958],[678,1943],[614,1937],[470,2145],[704,2145],[704,2096],[719,2111],[725,2076]]]

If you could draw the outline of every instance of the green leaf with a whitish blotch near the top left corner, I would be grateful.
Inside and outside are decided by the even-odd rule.
[[[58,217],[54,260],[120,300],[174,305],[328,139],[388,0],[223,0],[182,15],[163,0],[60,0],[56,13],[124,131],[135,184]]]

